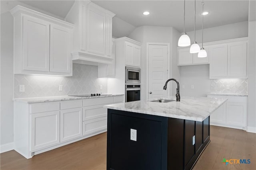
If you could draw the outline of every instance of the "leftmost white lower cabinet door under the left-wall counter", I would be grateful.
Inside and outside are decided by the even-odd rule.
[[[31,151],[60,142],[60,111],[31,114]]]

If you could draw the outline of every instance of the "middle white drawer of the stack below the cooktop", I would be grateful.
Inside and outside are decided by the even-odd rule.
[[[108,109],[104,105],[88,106],[83,108],[83,121],[95,119],[107,115]]]

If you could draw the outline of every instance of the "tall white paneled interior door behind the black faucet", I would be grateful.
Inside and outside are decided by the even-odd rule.
[[[148,98],[169,95],[169,86],[163,90],[168,79],[168,46],[148,45]]]

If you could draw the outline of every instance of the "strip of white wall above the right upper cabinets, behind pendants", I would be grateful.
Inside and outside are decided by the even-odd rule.
[[[193,43],[194,31],[187,34]],[[248,21],[204,29],[204,43],[242,37],[248,37]],[[202,29],[196,30],[196,42],[202,43]]]

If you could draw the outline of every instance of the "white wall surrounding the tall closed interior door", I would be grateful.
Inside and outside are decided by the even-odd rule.
[[[177,49],[173,48],[173,46],[176,47],[176,43],[175,45],[173,45],[173,41],[172,41],[172,37],[174,36],[175,39],[178,35],[178,31],[174,30],[172,27],[157,27],[157,26],[141,26],[141,27],[137,27],[128,37],[131,39],[134,39],[136,41],[139,41],[142,43],[142,47],[141,47],[141,75],[142,75],[142,81],[141,81],[141,99],[145,100],[147,93],[146,92],[146,86],[147,86],[147,80],[146,80],[146,69],[147,69],[147,65],[146,65],[146,60],[147,60],[147,56],[146,56],[146,44],[147,43],[170,43],[170,78],[177,78],[179,80],[179,77],[173,77],[172,76],[172,65],[173,65],[173,56],[172,55],[176,55],[177,53]],[[176,42],[176,40],[175,40]],[[175,61],[175,59],[174,59]],[[175,75],[178,76],[178,67],[177,64],[174,64],[175,68]],[[176,89],[176,83],[175,82],[170,82],[170,84],[172,86],[174,86],[174,88]],[[176,90],[175,90],[176,92]]]

